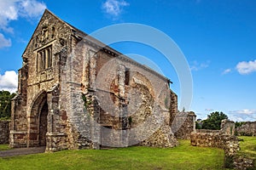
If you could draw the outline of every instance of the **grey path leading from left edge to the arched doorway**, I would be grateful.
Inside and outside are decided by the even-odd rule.
[[[38,154],[38,153],[44,153],[44,151],[45,151],[45,146],[36,147],[36,148],[15,148],[12,150],[0,151],[0,157]]]

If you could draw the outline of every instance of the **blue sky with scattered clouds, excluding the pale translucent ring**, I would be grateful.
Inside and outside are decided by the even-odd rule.
[[[203,119],[212,111],[224,111],[235,121],[256,120],[256,1],[0,0],[0,89],[16,88],[21,54],[44,8],[86,33],[119,23],[165,32],[182,50],[192,73],[193,100],[187,111]],[[135,42],[112,47],[152,60],[180,95],[177,73],[158,51]]]

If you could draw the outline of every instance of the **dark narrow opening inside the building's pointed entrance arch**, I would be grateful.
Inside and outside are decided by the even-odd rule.
[[[40,112],[39,119],[39,145],[46,145],[48,105],[45,102]]]

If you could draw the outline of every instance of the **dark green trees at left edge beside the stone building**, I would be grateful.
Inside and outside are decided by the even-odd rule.
[[[15,95],[9,93],[9,91],[0,91],[0,119],[9,119],[11,116],[11,99]]]

